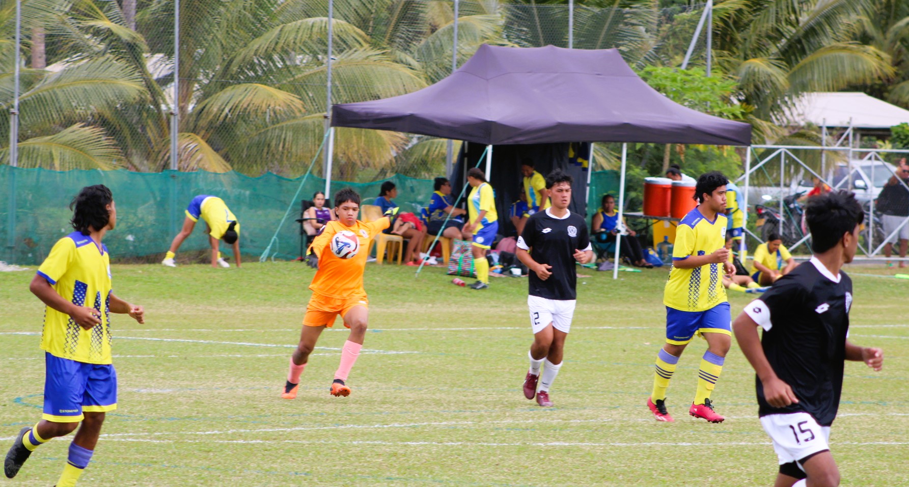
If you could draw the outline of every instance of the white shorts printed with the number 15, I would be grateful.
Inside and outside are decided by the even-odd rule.
[[[830,426],[819,425],[807,412],[768,414],[761,418],[761,425],[774,441],[781,465],[830,450]]]

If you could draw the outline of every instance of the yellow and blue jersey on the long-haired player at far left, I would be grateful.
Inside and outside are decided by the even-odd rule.
[[[111,363],[110,258],[104,244],[74,232],[57,241],[38,268],[56,293],[77,306],[95,308],[101,323],[85,330],[66,313],[45,307],[41,348],[63,359],[83,363]]]

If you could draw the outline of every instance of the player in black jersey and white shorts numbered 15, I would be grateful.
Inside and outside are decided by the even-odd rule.
[[[784,275],[735,318],[735,338],[757,373],[758,415],[774,441],[780,471],[774,487],[835,487],[830,425],[843,389],[844,360],[881,370],[879,348],[849,343],[852,280],[864,220],[854,194],[812,196],[805,208],[814,255]],[[764,329],[758,338],[757,327]]]

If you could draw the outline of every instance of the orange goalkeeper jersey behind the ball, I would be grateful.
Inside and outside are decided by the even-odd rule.
[[[375,222],[365,223],[359,220],[354,226],[347,226],[341,222],[332,221],[325,224],[324,230],[313,240],[310,247],[319,257],[319,270],[315,272],[313,283],[309,289],[313,293],[336,299],[350,299],[365,297],[363,289],[363,271],[366,267],[366,257],[369,253],[369,242],[375,234],[388,228],[387,217],[379,218]],[[332,253],[330,243],[332,235],[345,230],[356,234],[360,241],[360,250],[350,259],[342,259]]]

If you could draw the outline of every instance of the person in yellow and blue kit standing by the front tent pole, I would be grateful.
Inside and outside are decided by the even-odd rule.
[[[486,174],[478,167],[467,171],[467,184],[474,189],[467,197],[467,223],[462,229],[474,234],[471,250],[474,253],[474,270],[476,282],[471,289],[489,287],[489,261],[486,251],[493,246],[495,234],[499,231],[499,214],[495,211],[495,194],[493,186],[486,182]],[[545,183],[544,183],[545,184]]]

